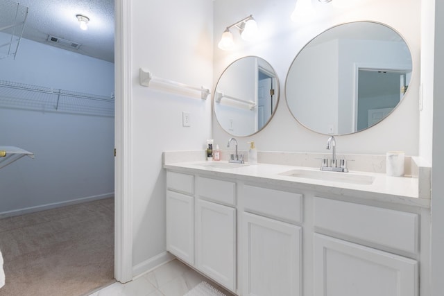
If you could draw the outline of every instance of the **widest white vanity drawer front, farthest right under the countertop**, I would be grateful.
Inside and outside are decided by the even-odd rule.
[[[314,226],[377,245],[418,252],[418,214],[314,198]]]

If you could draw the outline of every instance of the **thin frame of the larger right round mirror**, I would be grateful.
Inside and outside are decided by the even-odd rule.
[[[285,103],[287,104],[287,108],[291,114],[291,116],[293,116],[293,119],[295,119],[300,125],[302,125],[302,127],[306,128],[307,130],[310,130],[311,132],[316,132],[317,134],[323,134],[326,136],[342,136],[342,135],[348,135],[348,134],[356,134],[357,132],[363,132],[364,130],[368,130],[369,128],[373,128],[374,126],[378,125],[379,123],[381,123],[382,121],[384,121],[384,119],[386,119],[388,116],[390,116],[399,106],[400,104],[405,101],[405,99],[407,98],[407,95],[409,94],[409,90],[411,89],[411,87],[407,87],[407,91],[404,93],[404,96],[402,96],[402,99],[400,100],[400,102],[398,102],[397,105],[395,105],[395,107],[393,107],[393,109],[388,112],[388,114],[386,114],[386,116],[384,116],[381,120],[379,120],[377,123],[374,123],[373,125],[368,126],[367,128],[363,128],[361,130],[357,130],[355,132],[347,132],[347,133],[341,133],[339,134],[338,132],[334,132],[332,134],[329,133],[324,133],[324,132],[320,132],[317,130],[314,130],[313,128],[309,128],[305,123],[300,122],[297,118],[296,115],[293,114],[290,106],[289,106],[289,97],[287,95],[287,84],[289,83],[289,73],[291,71],[291,68],[293,67],[293,65],[296,62],[296,59],[298,58],[298,56],[300,55],[300,53],[307,48],[307,46],[309,46],[309,44],[314,41],[317,37],[321,36],[323,33],[326,33],[327,31],[330,31],[336,27],[339,26],[343,26],[346,24],[355,24],[355,23],[371,23],[371,24],[378,24],[381,26],[384,26],[386,28],[389,28],[391,31],[393,31],[393,33],[398,34],[398,36],[402,39],[402,41],[404,42],[404,44],[407,46],[407,49],[409,50],[410,53],[410,57],[411,57],[411,78],[409,80],[409,85],[411,85],[411,81],[413,80],[414,77],[414,73],[415,73],[415,67],[413,67],[413,55],[412,55],[412,51],[411,51],[411,46],[409,46],[409,43],[407,42],[407,40],[405,40],[405,38],[400,34],[399,31],[395,30],[395,28],[393,28],[392,26],[388,26],[387,24],[384,24],[382,22],[379,21],[349,21],[349,22],[345,22],[345,23],[341,23],[341,24],[336,24],[334,26],[331,26],[327,29],[325,29],[324,31],[322,31],[321,33],[318,33],[316,36],[314,36],[313,38],[311,38],[311,40],[309,40],[309,42],[307,42],[304,46],[302,46],[302,48],[300,49],[300,51],[298,51],[296,57],[293,59],[293,61],[290,64],[289,70],[287,71],[287,76],[285,78],[285,85],[284,85],[284,95],[285,95]]]

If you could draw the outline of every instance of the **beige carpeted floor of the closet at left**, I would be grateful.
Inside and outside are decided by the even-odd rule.
[[[114,198],[0,219],[0,295],[78,296],[114,281]]]

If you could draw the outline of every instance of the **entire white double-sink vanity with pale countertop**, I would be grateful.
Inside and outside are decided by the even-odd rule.
[[[167,250],[233,293],[427,293],[429,180],[173,155]]]

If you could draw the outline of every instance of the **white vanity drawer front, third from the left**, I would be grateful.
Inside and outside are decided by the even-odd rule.
[[[302,194],[245,185],[244,207],[269,218],[302,223]]]

